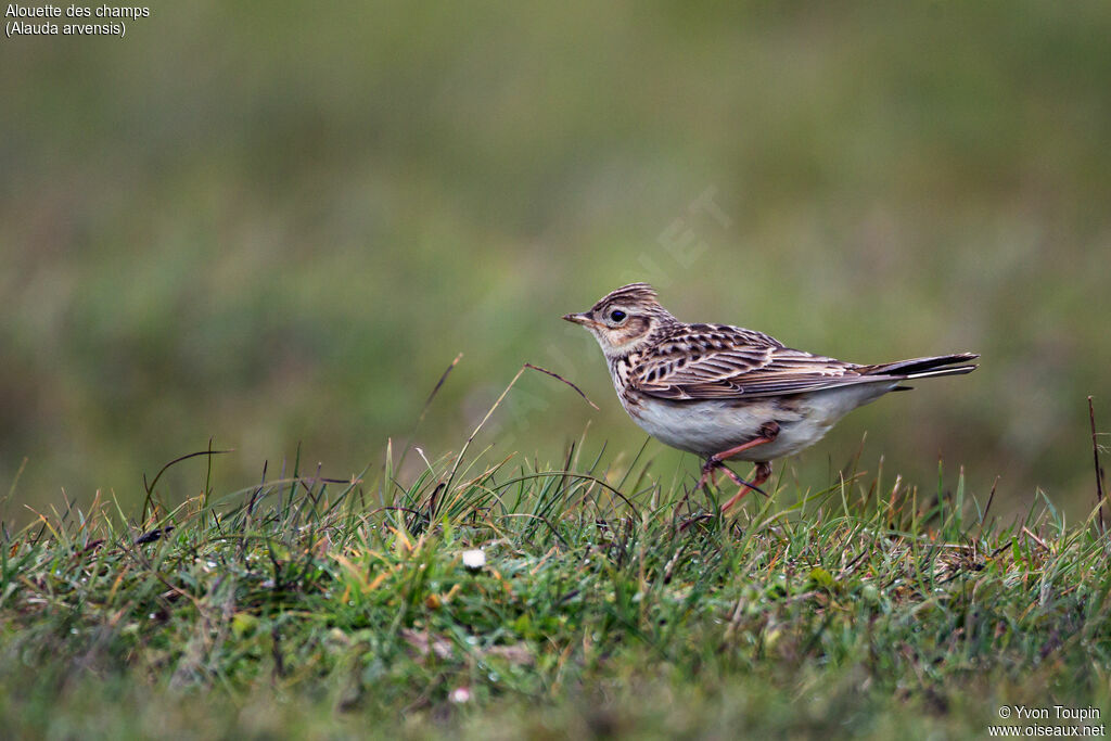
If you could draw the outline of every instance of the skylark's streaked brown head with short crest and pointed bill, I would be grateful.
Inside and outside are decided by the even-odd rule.
[[[657,301],[648,283],[622,286],[602,297],[589,311],[563,317],[582,324],[598,340],[607,358],[627,356],[675,318]]]

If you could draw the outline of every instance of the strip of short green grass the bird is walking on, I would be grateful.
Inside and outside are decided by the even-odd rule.
[[[153,481],[139,524],[99,501],[4,531],[0,724],[979,738],[1003,704],[1111,711],[1107,541],[1048,500],[999,522],[963,474],[848,470],[700,517],[731,492],[590,448],[449,455],[407,488],[393,454],[377,482],[294,464],[174,507]]]

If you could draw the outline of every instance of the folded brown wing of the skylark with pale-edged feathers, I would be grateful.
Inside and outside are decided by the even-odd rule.
[[[875,380],[865,369],[785,348],[760,332],[690,324],[657,343],[630,382],[659,399],[752,399]]]

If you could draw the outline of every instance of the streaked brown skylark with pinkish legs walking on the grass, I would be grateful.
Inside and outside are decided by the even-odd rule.
[[[853,409],[905,381],[970,373],[980,356],[959,352],[867,366],[788,348],[731,324],[690,324],[648,283],[607,293],[564,320],[601,346],[621,405],[642,430],[704,460],[695,490],[724,470],[740,487],[728,512],[771,477],[773,460],[814,444]],[[754,463],[744,481],[725,461]]]

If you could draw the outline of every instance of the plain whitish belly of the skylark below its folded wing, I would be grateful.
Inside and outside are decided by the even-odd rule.
[[[837,389],[774,399],[667,402],[644,400],[625,411],[642,430],[664,444],[711,455],[760,437],[760,429],[779,424],[777,438],[733,457],[743,461],[770,461],[791,455],[821,440],[850,411],[883,395],[898,381],[859,383]]]

